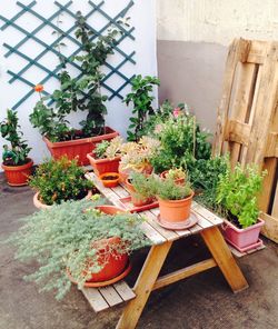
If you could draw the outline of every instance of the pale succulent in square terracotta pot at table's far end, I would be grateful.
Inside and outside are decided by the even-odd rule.
[[[121,154],[121,147],[123,144],[123,139],[120,136],[111,139],[110,141],[103,140],[98,143],[93,152],[99,159],[112,159]]]

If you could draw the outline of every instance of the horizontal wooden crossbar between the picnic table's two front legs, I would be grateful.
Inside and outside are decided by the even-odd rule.
[[[214,258],[197,262],[192,266],[188,266],[188,267],[177,270],[170,275],[166,275],[163,277],[158,278],[152,290],[160,289],[162,287],[166,287],[166,286],[177,282],[179,280],[182,280],[182,279],[189,278],[193,275],[203,272],[203,271],[211,269],[216,266],[217,266],[217,263]]]

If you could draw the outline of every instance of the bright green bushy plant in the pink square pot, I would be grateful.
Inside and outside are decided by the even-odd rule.
[[[237,164],[220,176],[217,188],[217,202],[227,211],[229,220],[235,220],[241,228],[257,222],[259,216],[258,193],[265,172],[248,166],[245,169]]]

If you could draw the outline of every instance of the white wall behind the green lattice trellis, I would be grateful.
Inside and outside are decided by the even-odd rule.
[[[16,4],[17,0],[0,0],[0,13],[7,18],[11,18],[14,16],[16,12],[19,11],[18,6]],[[29,0],[21,0],[24,4],[30,3]],[[53,4],[53,0],[37,0],[38,4],[36,6],[36,11],[43,14],[44,18],[50,17],[57,7]],[[60,0],[59,2],[66,3],[67,0]],[[95,0],[95,3],[100,2]],[[113,17],[113,14],[118,13],[129,0],[106,0],[103,10],[107,11],[109,14]],[[81,10],[82,12],[88,11],[89,4],[87,0],[73,0],[73,6],[71,10],[76,12],[77,10]],[[155,0],[140,0],[135,1],[133,7],[127,13],[128,17],[131,17],[131,26],[135,27],[135,41],[126,40],[122,43],[121,49],[127,53],[136,51],[135,60],[137,64],[126,64],[122,69],[122,72],[126,76],[131,77],[133,73],[141,73],[141,74],[157,74],[157,60],[156,60],[156,8],[155,8]],[[62,23],[61,29],[67,29],[72,24],[72,19],[70,19],[67,14],[61,17]],[[18,21],[19,22],[19,21]],[[106,20],[101,19],[100,17],[95,17],[95,20],[89,21],[93,27],[100,29]],[[2,26],[2,22],[0,22]],[[28,31],[33,30],[37,26],[39,26],[41,21],[33,18],[33,16],[27,13],[24,14],[23,19],[21,19],[20,24],[24,27]],[[53,42],[54,37],[51,34],[52,29],[46,28],[43,32],[37,34],[40,37],[44,42]],[[12,107],[22,96],[24,96],[30,89],[26,84],[20,81],[16,81],[12,84],[8,83],[10,76],[7,73],[7,70],[11,70],[13,72],[19,71],[21,68],[24,67],[24,60],[19,59],[18,56],[10,56],[9,58],[4,58],[3,54],[7,50],[2,47],[3,42],[9,44],[17,44],[21,38],[22,33],[16,31],[12,27],[9,27],[4,31],[0,31],[0,121],[6,117],[6,109]],[[75,50],[75,44],[66,39],[67,47],[63,49],[63,53],[71,53]],[[22,47],[21,50],[31,57],[34,58],[38,52],[41,50],[40,46],[36,42],[29,40],[28,44]],[[109,59],[109,63],[118,63],[120,57],[115,54]],[[56,56],[51,56],[50,53],[43,58],[43,64],[47,66],[49,69],[54,69],[58,64],[58,60]],[[75,74],[75,72],[72,71]],[[40,79],[44,77],[44,73],[41,70],[32,68],[28,70],[24,76],[29,81],[37,84]],[[118,78],[113,77],[111,84],[115,87],[119,86]],[[50,80],[48,83],[44,84],[44,88],[48,92],[51,92],[53,89],[58,87],[58,82],[56,80]],[[130,87],[123,90],[123,94],[130,90]],[[106,90],[103,91],[105,94],[109,94]],[[41,140],[41,136],[39,132],[33,129],[29,122],[29,113],[32,111],[32,108],[38,100],[38,94],[33,94],[30,99],[23,102],[20,108],[18,109],[18,114],[20,119],[20,124],[24,132],[24,138],[29,141],[29,144],[32,147],[32,151],[30,153],[31,158],[39,162],[43,157],[48,157],[49,152]],[[108,107],[108,116],[107,116],[107,123],[112,128],[119,130],[123,136],[127,130],[128,119],[130,117],[130,109],[127,109],[126,106],[121,102],[119,98],[113,98],[110,102],[107,102]],[[85,113],[78,113],[77,116],[72,116],[72,126],[76,126]],[[0,150],[2,149],[2,144],[6,141],[0,138]]]

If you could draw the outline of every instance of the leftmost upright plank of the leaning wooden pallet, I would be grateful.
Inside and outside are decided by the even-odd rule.
[[[228,119],[232,83],[237,63],[246,62],[250,49],[250,41],[236,39],[229,47],[229,53],[226,61],[224,87],[220,104],[217,113],[217,128],[214,143],[214,154],[221,154],[225,138],[225,128]]]

